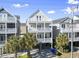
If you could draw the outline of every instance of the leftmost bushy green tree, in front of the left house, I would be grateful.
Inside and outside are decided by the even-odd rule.
[[[7,53],[15,53],[15,57],[17,57],[17,51],[19,50],[18,37],[11,36],[5,44],[5,49]]]

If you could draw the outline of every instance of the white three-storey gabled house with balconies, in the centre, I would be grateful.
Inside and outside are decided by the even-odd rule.
[[[38,43],[52,43],[51,19],[41,10],[37,10],[27,20],[28,32],[34,33]]]

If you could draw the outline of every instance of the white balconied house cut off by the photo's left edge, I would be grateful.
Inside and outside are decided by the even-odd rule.
[[[19,16],[0,8],[0,46],[7,42],[11,35],[19,35],[19,19]]]

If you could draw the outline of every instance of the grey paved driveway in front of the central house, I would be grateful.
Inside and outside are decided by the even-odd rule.
[[[33,53],[33,51],[32,51],[31,55],[33,58],[53,58],[53,57],[55,57],[55,55],[49,49],[43,49],[41,51],[36,50],[35,53]]]

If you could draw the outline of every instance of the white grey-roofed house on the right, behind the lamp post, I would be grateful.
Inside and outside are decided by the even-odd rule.
[[[79,16],[76,16],[79,17]],[[65,17],[65,18],[61,18],[56,20],[57,23],[55,24],[59,24],[59,29],[61,33],[66,33],[68,38],[69,38],[69,42],[71,42],[71,37],[72,37],[72,24],[71,24],[71,18],[70,17]],[[74,46],[79,46],[79,18],[75,18],[73,19],[73,43]]]

